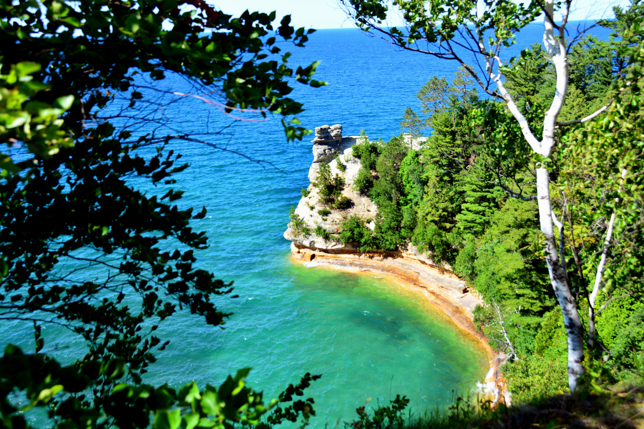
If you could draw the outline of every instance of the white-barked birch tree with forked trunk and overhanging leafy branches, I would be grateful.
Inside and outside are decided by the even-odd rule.
[[[553,165],[551,155],[558,142],[558,129],[595,119],[611,107],[613,100],[587,117],[567,122],[558,120],[569,92],[569,49],[578,40],[578,37],[567,38],[571,30],[571,0],[563,3],[533,0],[528,4],[507,0],[394,0],[393,5],[399,8],[404,17],[405,28],[386,27],[388,7],[383,0],[341,0],[341,3],[359,28],[382,37],[399,48],[459,62],[477,82],[480,90],[489,97],[504,102],[520,126],[524,142],[515,144],[524,145],[536,162],[536,195],[524,198],[533,198],[538,202],[545,262],[554,295],[564,315],[567,332],[568,384],[571,392],[575,392],[583,374],[585,329],[565,267],[564,224],[553,211],[549,168]],[[525,106],[515,100],[504,86],[504,73],[511,62],[504,57],[504,48],[515,43],[514,36],[520,28],[538,17],[542,17],[544,22],[542,44],[554,66],[556,82],[554,96],[549,100],[542,121],[535,126],[534,122],[531,124],[527,119]],[[468,62],[470,57],[475,59],[474,62]],[[621,87],[616,88],[616,93],[623,92],[631,83],[622,81]],[[622,176],[622,183],[629,176],[628,170],[632,167],[633,164],[622,167],[627,171]],[[601,287],[605,260],[611,248],[615,218],[616,214],[610,216],[604,237],[605,245],[594,276],[596,280],[589,293],[591,319],[594,299]],[[555,235],[555,227],[558,227],[558,236]]]

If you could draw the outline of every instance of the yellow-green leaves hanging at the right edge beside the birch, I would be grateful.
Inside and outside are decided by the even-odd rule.
[[[607,267],[604,276],[609,296],[620,287],[641,291],[644,274],[638,262],[644,243],[644,215],[640,210],[644,198],[640,171],[644,160],[644,99],[639,86],[643,53],[641,42],[629,48],[628,56],[636,67],[629,68],[624,79],[613,83],[610,96],[614,100],[605,115],[570,129],[562,138],[563,156],[576,160],[561,171],[561,189],[567,194],[571,210],[579,213],[587,225],[606,222],[612,213],[616,216],[615,242],[609,252],[615,262]],[[635,83],[628,86],[629,81]],[[594,228],[582,231],[580,240],[595,238],[593,233]],[[597,263],[598,254],[589,255],[585,268],[594,269]]]

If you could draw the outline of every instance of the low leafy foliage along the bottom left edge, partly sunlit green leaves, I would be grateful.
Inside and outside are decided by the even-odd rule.
[[[61,367],[53,359],[41,354],[23,354],[12,345],[0,357],[1,422],[6,428],[33,427],[26,415],[31,408],[49,408],[50,417],[61,421],[56,427],[147,428],[153,422],[158,429],[178,429],[207,426],[209,428],[230,428],[234,424],[257,425],[268,416],[272,424],[284,419],[296,421],[301,414],[308,421],[315,415],[313,400],[293,401],[292,396],[303,395],[303,389],[310,381],[320,376],[305,374],[294,388],[290,385],[279,396],[279,400],[265,404],[262,394],[246,386],[250,368],[239,370],[234,377],[228,376],[219,387],[207,385],[200,390],[194,381],[179,390],[167,385],[153,387],[146,384],[133,385],[120,381],[126,374],[126,362],[115,359],[108,362],[92,361],[81,370],[75,365]],[[111,380],[113,388],[102,398],[102,406],[88,406],[80,395],[94,385],[96,379]],[[12,403],[9,392],[23,390],[26,401],[19,405]],[[282,410],[282,404],[291,405]],[[305,403],[306,406],[301,406]],[[276,405],[278,408],[267,414]],[[55,411],[55,413],[54,413]]]

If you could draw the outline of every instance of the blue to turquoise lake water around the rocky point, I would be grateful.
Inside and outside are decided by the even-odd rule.
[[[538,27],[529,30],[516,53],[538,41]],[[307,48],[292,50],[294,66],[320,59],[316,79],[330,83],[319,89],[298,86],[292,93],[307,108],[299,115],[303,125],[340,123],[345,135],[366,129],[371,138],[397,135],[406,106],[417,108],[414,95],[422,84],[435,74],[451,77],[457,69],[454,63],[395,52],[357,30],[320,30]],[[158,86],[194,91],[173,77]],[[285,142],[278,119],[231,122],[192,98],[162,113],[169,126],[200,133],[204,142],[226,149],[170,145],[191,164],[177,175],[177,187],[185,190],[180,205],[208,210],[194,224],[209,236],[209,249],[198,253],[200,264],[225,281],[234,280],[240,297],[220,298],[220,308],[234,313],[225,330],[187,314],[167,319],[159,333],[172,342],[158,354],[146,381],[217,385],[238,368],[252,367],[251,385],[270,399],[305,372],[323,374],[308,390],[318,412],[312,424],[320,427],[352,419],[369,397],[375,405],[404,394],[413,411],[422,413],[448,405],[452,390],[475,388],[488,369],[486,356],[428,307],[422,294],[381,278],[290,260],[290,242],[282,233],[289,207],[308,186],[310,143]],[[149,187],[147,192],[164,190]],[[47,327],[45,333],[46,350],[61,360],[73,361],[82,353],[82,343],[64,330]],[[30,348],[31,335],[30,327],[5,324],[1,342]]]

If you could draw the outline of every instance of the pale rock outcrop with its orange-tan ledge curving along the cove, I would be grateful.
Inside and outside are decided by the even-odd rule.
[[[431,258],[409,245],[406,251],[381,253],[360,253],[356,245],[342,244],[335,239],[342,222],[348,216],[356,215],[369,222],[377,213],[374,202],[353,189],[354,179],[360,168],[360,160],[352,155],[352,145],[359,137],[342,137],[342,126],[322,126],[316,128],[316,138],[312,140],[314,162],[309,169],[308,178],[314,183],[321,162],[327,162],[333,174],[345,179],[342,194],[350,198],[352,206],[345,210],[333,210],[325,216],[318,213],[323,209],[319,194],[314,186],[308,187],[308,195],[299,201],[295,214],[310,227],[322,227],[332,234],[330,239],[314,233],[303,235],[289,224],[284,237],[290,240],[291,256],[301,263],[327,265],[334,269],[352,272],[375,272],[390,276],[403,287],[421,289],[430,303],[439,307],[465,334],[475,338],[484,348],[489,358],[489,371],[482,387],[494,403],[504,400],[509,404],[504,379],[500,375],[500,365],[506,357],[497,354],[482,333],[477,332],[473,323],[473,310],[482,303],[480,297],[471,291],[466,283],[455,274],[439,267]],[[341,162],[344,169],[338,168]],[[373,223],[370,225],[373,228]],[[312,229],[311,228],[311,229]]]

